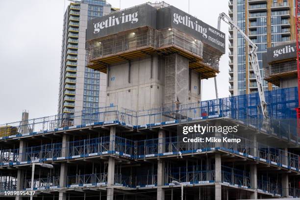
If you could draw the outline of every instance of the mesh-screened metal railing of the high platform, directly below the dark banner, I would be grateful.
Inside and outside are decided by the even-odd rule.
[[[97,46],[87,49],[89,52],[88,62],[132,50],[140,50],[148,47],[153,49],[163,49],[171,46],[201,58],[203,57],[203,43],[185,33],[174,28],[163,30],[143,28],[131,30],[130,32],[126,32],[125,35],[112,36],[109,39],[98,41]],[[208,48],[206,51],[209,51]],[[208,54],[209,53],[207,53],[206,57]],[[208,56],[208,58],[204,58],[204,60],[206,59],[206,62],[212,62],[212,67],[217,67],[218,59],[216,57],[218,56]]]

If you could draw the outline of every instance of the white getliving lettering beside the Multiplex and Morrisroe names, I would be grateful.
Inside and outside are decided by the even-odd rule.
[[[193,22],[193,21],[191,21],[191,18],[189,16],[181,16],[178,13],[174,13],[173,17],[174,17],[173,23],[175,25],[178,25],[178,24],[186,25],[189,28],[192,28],[192,29],[200,32],[204,38],[207,38],[207,34],[206,34],[207,28],[204,28],[203,26],[199,25],[198,21]]]

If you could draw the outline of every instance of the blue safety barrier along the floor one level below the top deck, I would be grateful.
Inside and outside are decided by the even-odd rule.
[[[197,135],[196,135],[197,136]],[[201,135],[199,135],[200,137]],[[147,159],[161,156],[180,156],[207,151],[221,150],[249,159],[254,159],[269,165],[299,171],[298,154],[274,148],[272,146],[254,143],[250,139],[227,134],[226,137],[240,139],[240,143],[186,143],[182,137],[166,137],[133,141],[116,136],[90,138],[70,141],[62,148],[62,143],[44,144],[27,147],[20,153],[19,149],[0,150],[0,166],[23,165],[33,162],[70,160],[98,155],[117,154],[129,159]],[[112,149],[110,150],[110,144]],[[161,151],[159,151],[161,149]],[[65,152],[62,155],[62,152]]]

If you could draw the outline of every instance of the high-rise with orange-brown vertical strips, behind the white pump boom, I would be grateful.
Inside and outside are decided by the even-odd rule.
[[[229,0],[229,16],[258,47],[262,78],[262,54],[278,42],[295,39],[294,0]],[[248,44],[234,28],[229,28],[229,92],[243,95],[257,92],[249,62]],[[263,80],[265,90],[275,86]]]

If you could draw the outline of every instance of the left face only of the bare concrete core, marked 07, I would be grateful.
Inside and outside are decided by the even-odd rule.
[[[153,55],[152,61],[148,56],[130,63],[130,75],[129,61],[109,66],[106,106],[118,105],[119,110],[160,107],[164,97],[164,60]]]

